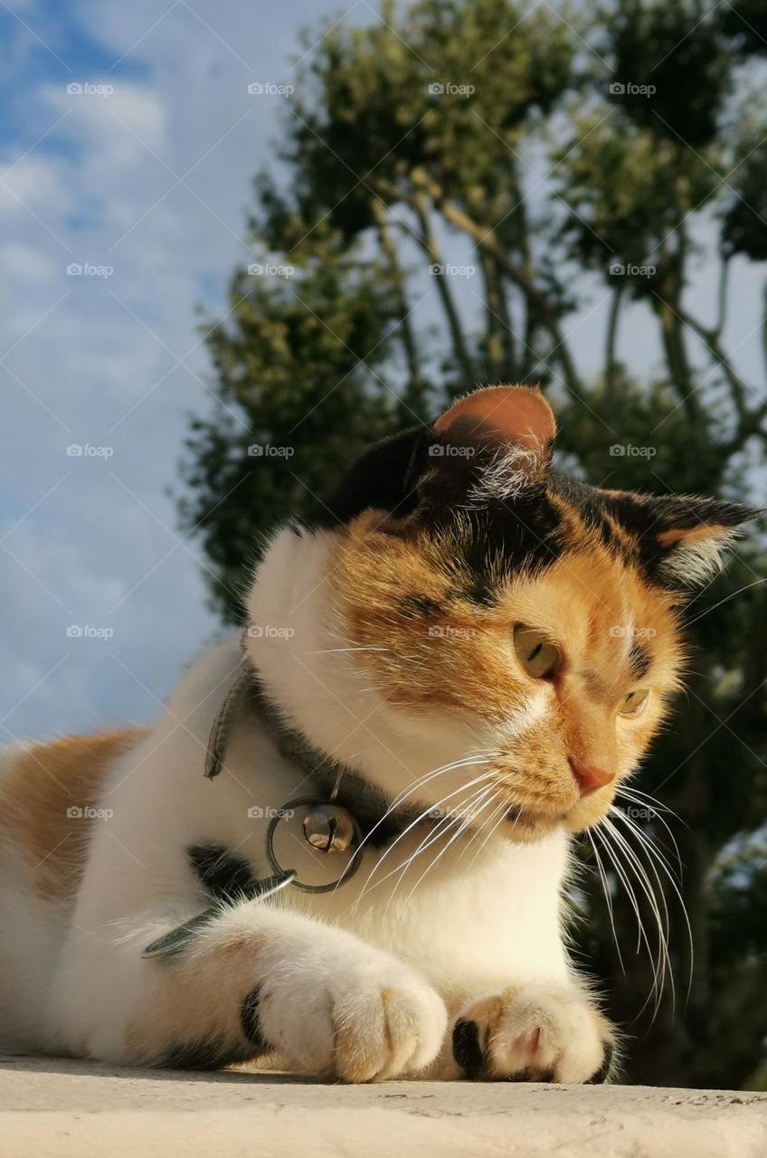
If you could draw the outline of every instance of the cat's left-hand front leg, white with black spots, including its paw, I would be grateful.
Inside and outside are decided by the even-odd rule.
[[[167,931],[90,931],[70,946],[56,1006],[75,1053],[134,1065],[216,1067],[276,1050],[297,1069],[368,1082],[428,1065],[441,998],[414,968],[344,932],[243,902],[180,951]]]

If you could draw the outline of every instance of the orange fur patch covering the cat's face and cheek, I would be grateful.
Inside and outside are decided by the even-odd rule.
[[[682,659],[673,596],[647,584],[630,556],[606,547],[567,503],[557,506],[563,554],[533,577],[499,573],[489,603],[472,598],[460,520],[439,538],[406,520],[381,526],[380,513],[367,512],[338,536],[330,570],[341,631],[352,646],[371,648],[358,662],[388,703],[460,713],[494,730],[495,770],[510,808],[521,809],[513,831],[520,840],[604,815],[615,785],[579,799],[569,761],[627,775],[660,725],[663,694],[677,688]],[[399,534],[387,534],[395,527]],[[557,645],[563,662],[553,680],[521,669],[517,623]],[[638,681],[637,643],[649,665]],[[624,697],[640,687],[651,689],[645,711],[621,717]],[[541,696],[538,718],[509,726]]]

